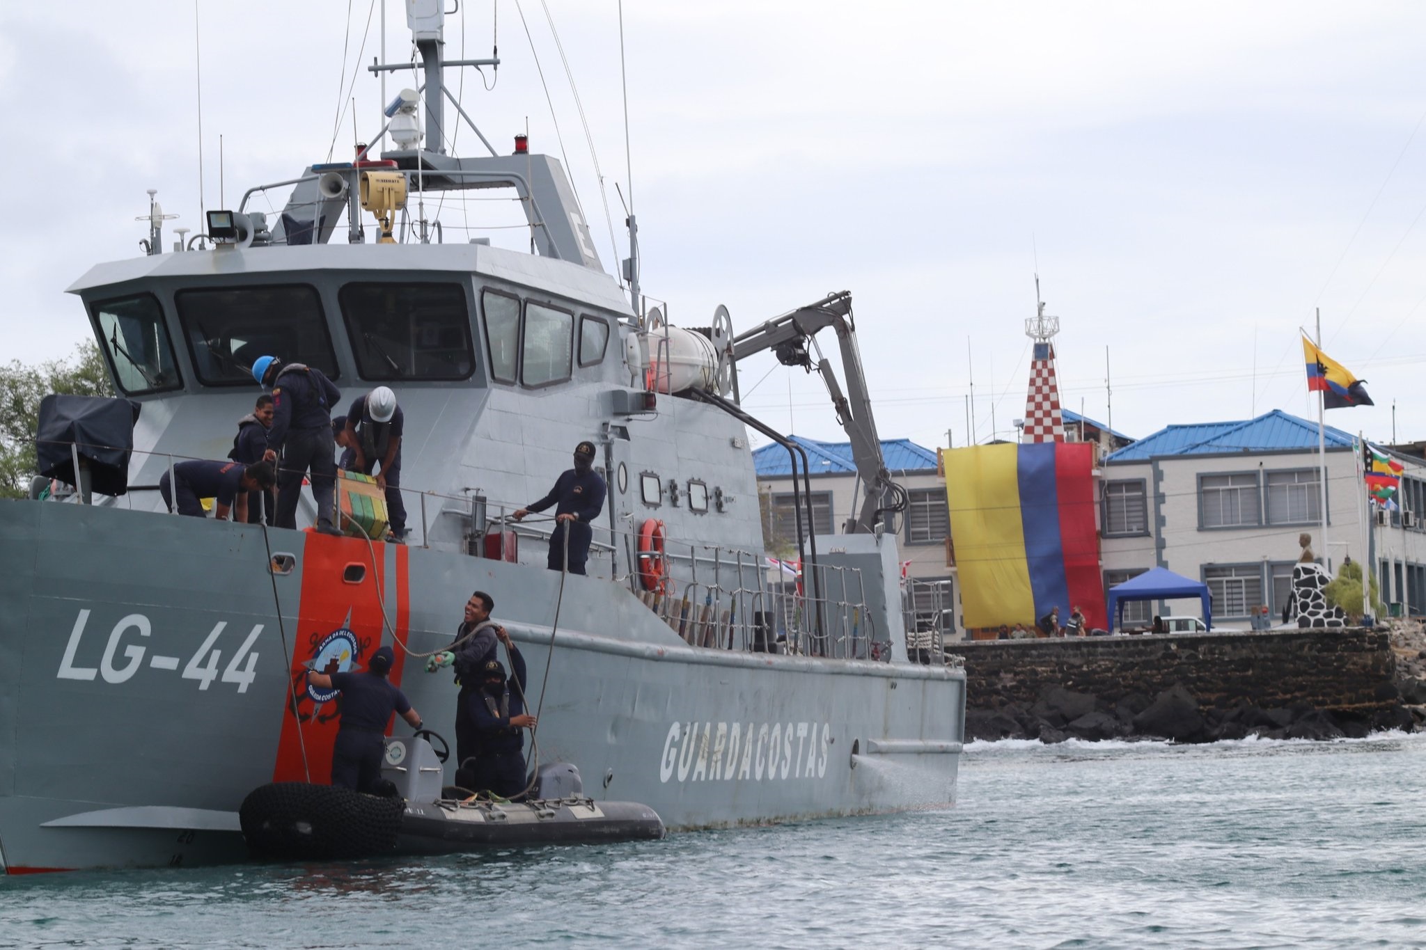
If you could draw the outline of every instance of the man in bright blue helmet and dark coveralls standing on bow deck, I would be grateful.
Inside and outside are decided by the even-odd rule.
[[[260,356],[252,363],[252,379],[272,387],[272,426],[264,456],[278,461],[277,516],[279,528],[297,527],[297,501],[302,494],[302,476],[312,473],[312,497],[317,500],[317,530],[338,534],[332,521],[337,497],[337,446],[332,442],[332,406],[342,393],[322,370],[302,363],[282,363],[275,356]]]

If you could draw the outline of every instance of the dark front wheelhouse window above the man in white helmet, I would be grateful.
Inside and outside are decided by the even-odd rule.
[[[468,379],[473,372],[459,283],[348,283],[338,299],[364,379]]]

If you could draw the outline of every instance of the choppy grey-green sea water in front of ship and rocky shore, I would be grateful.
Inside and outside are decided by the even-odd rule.
[[[7,879],[0,946],[1426,946],[1423,785],[1426,735],[977,742],[944,810]]]

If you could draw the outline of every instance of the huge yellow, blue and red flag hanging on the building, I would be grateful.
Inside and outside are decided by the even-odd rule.
[[[1092,446],[1084,442],[943,449],[951,540],[967,627],[1034,624],[1078,607],[1107,627]]]

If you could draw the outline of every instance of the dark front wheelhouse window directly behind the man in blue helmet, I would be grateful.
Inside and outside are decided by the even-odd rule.
[[[307,283],[188,289],[174,295],[198,380],[252,386],[258,356],[307,363],[337,379],[322,301]]]

